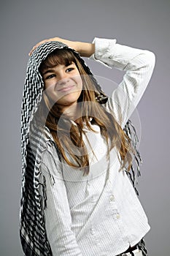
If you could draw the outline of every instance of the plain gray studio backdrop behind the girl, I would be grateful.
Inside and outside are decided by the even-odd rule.
[[[137,108],[142,123],[140,151],[144,159],[139,189],[151,225],[146,236],[149,255],[170,255],[169,7],[169,0],[1,3],[1,256],[23,255],[18,235],[20,105],[28,52],[39,40],[54,36],[86,42],[91,42],[93,37],[117,38],[120,44],[155,53],[155,71]],[[120,82],[122,72],[87,62],[96,75]]]

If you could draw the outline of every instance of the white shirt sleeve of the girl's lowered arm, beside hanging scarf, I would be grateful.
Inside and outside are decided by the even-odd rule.
[[[61,162],[55,146],[48,143],[42,153],[40,171],[46,181],[45,227],[53,256],[82,256],[74,233],[63,181]]]

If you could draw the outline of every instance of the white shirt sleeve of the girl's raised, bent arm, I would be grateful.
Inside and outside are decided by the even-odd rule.
[[[106,104],[123,128],[147,88],[155,66],[155,54],[117,44],[116,39],[95,38],[93,42],[95,53],[90,59],[125,71],[123,80]]]

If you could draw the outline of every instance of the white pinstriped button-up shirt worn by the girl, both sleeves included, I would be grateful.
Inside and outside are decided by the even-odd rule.
[[[148,50],[119,45],[115,39],[94,39],[96,61],[125,71],[123,81],[105,105],[123,128],[149,83],[155,56]],[[100,129],[85,130],[90,173],[82,176],[58,159],[53,138],[42,153],[46,179],[45,226],[54,256],[115,256],[137,244],[150,230],[147,217],[115,148],[107,161]]]

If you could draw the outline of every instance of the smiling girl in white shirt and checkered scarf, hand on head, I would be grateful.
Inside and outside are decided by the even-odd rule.
[[[81,56],[125,71],[108,98]],[[55,37],[30,53],[21,115],[20,238],[25,255],[147,255],[147,217],[127,173],[128,118],[155,56]],[[127,123],[128,122],[128,123]]]

